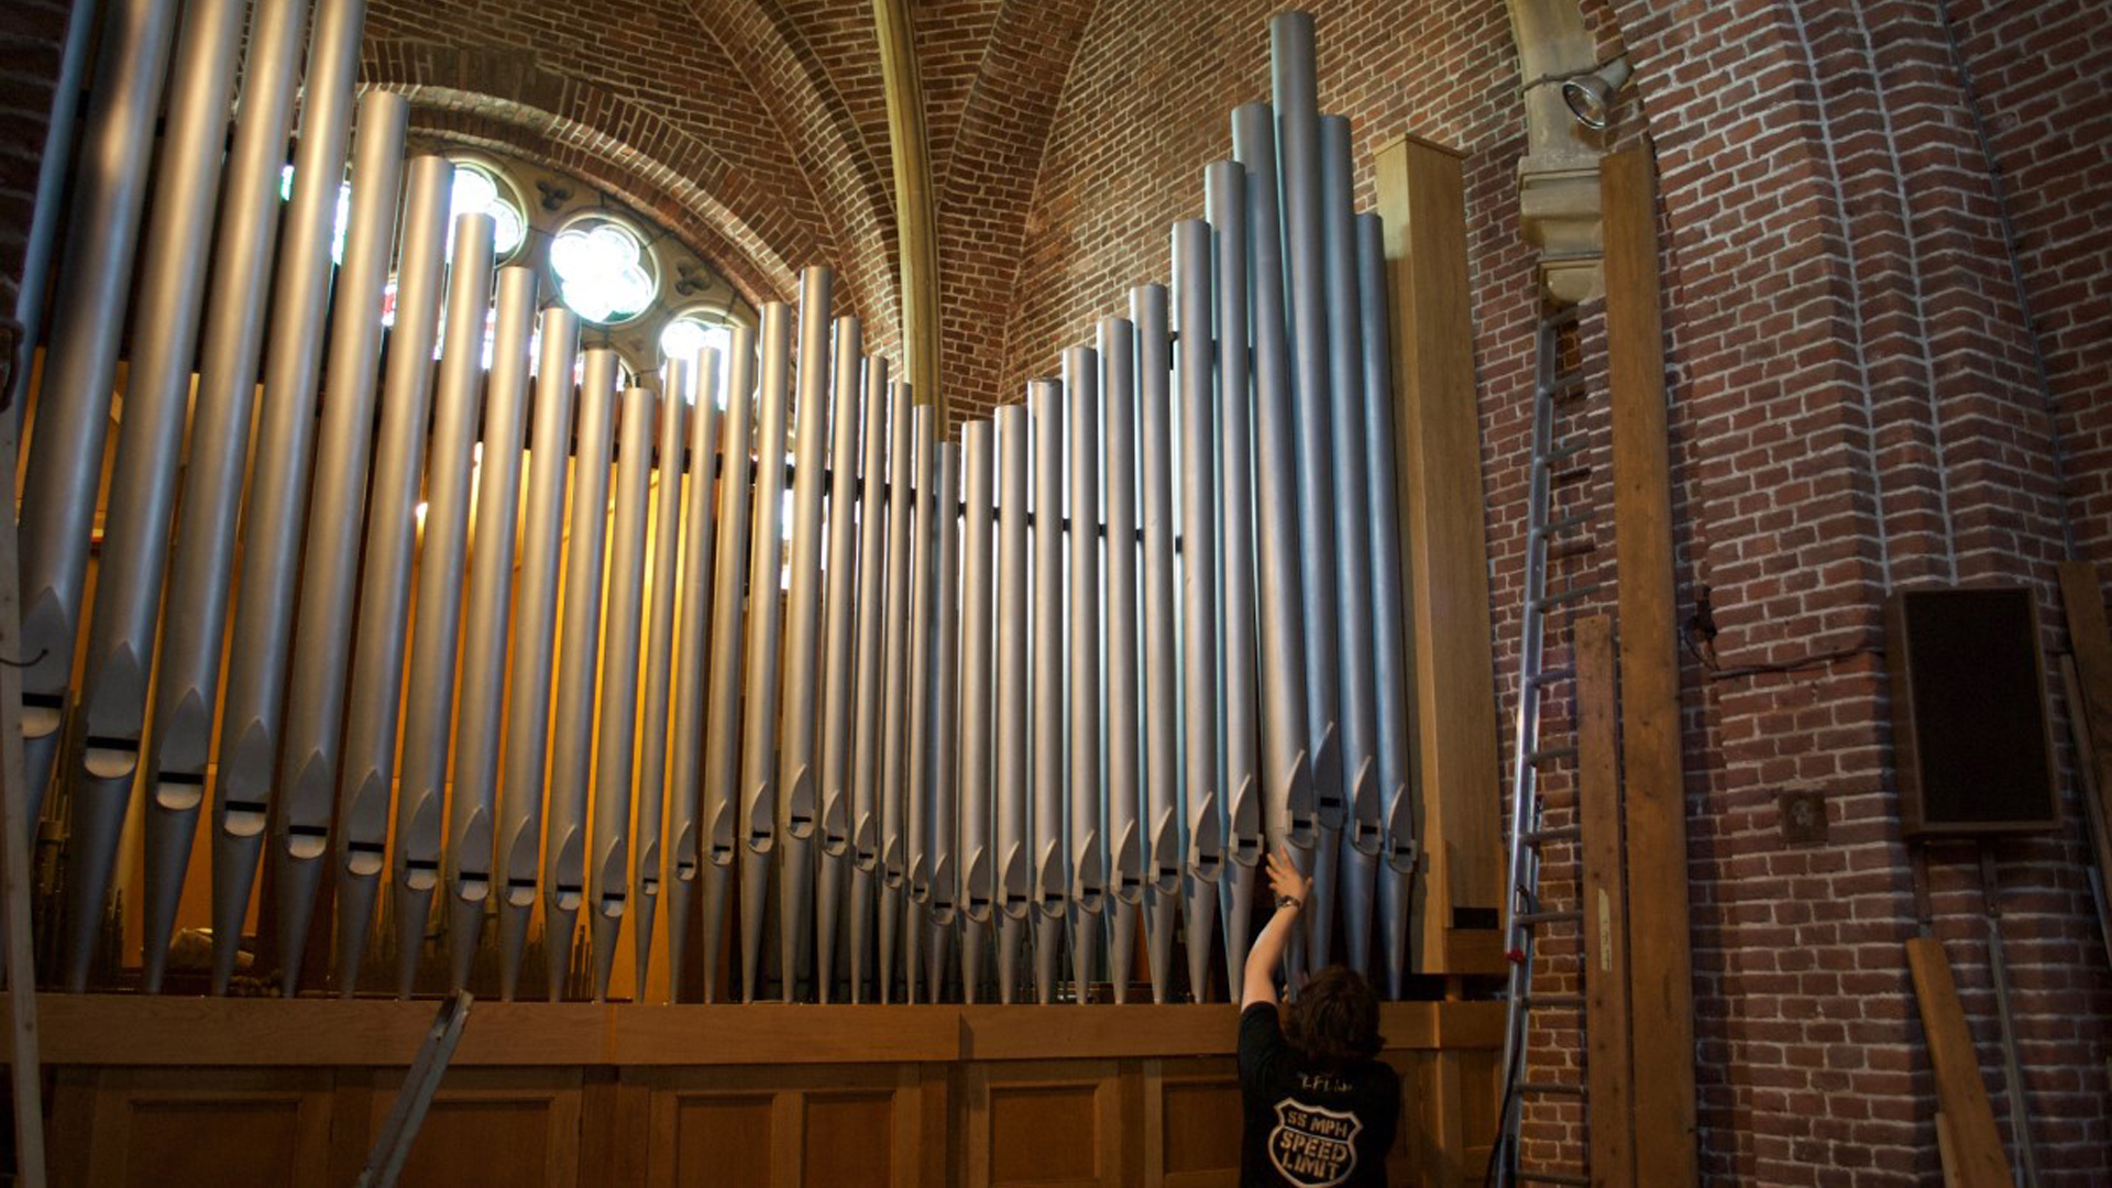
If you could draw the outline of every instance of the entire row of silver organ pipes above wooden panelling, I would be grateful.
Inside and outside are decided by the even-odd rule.
[[[551,998],[574,962],[606,996],[627,932],[638,996],[661,939],[684,1000],[1121,1002],[1138,953],[1202,1000],[1280,848],[1316,875],[1293,964],[1400,994],[1385,271],[1307,15],[1271,21],[1274,104],[1231,114],[1170,285],[957,435],[819,266],[619,389],[486,216],[450,226],[406,99],[355,104],[361,21],[103,4],[19,505],[57,983],[89,985],[135,814],[148,991],[203,833],[213,991],[262,871],[287,996],[323,922],[342,994],[370,951],[410,994],[437,934],[448,983],[496,947],[511,998],[541,924]]]

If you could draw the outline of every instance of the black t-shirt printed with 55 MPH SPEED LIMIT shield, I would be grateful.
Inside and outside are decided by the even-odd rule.
[[[1385,1186],[1385,1152],[1400,1125],[1400,1078],[1362,1061],[1307,1068],[1284,1040],[1276,1006],[1240,1013],[1240,1188]]]

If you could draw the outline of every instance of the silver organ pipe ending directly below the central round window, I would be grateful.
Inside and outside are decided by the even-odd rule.
[[[608,446],[617,419],[617,353],[587,351],[572,440],[572,509],[564,541],[564,602],[558,624],[558,702],[549,744],[549,805],[543,812],[545,996],[564,998],[572,932],[587,894],[587,784],[593,778],[596,679],[602,657],[602,590],[608,547]]]

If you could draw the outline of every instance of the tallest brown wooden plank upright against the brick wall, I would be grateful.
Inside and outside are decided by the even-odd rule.
[[[1687,801],[1679,769],[1664,321],[1649,152],[1616,152],[1605,159],[1599,178],[1614,406],[1620,744],[1628,774],[1624,812],[1635,1004],[1635,1177],[1639,1184],[1692,1184],[1694,953],[1687,936]]]

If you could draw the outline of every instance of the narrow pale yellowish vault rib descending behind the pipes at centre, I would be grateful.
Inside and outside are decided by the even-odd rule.
[[[902,258],[902,359],[910,395],[929,404],[944,435],[946,393],[938,378],[938,218],[931,205],[931,146],[910,0],[872,0],[887,89],[887,142],[895,165],[895,252]]]

